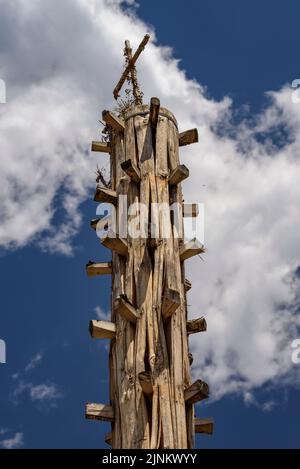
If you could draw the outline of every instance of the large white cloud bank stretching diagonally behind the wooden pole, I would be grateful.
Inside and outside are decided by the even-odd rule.
[[[208,99],[122,3],[0,0],[0,244],[72,253],[95,161],[107,162],[88,147],[100,111],[114,106],[123,41],[135,47],[150,32],[139,61],[145,100],[159,96],[182,130],[200,135],[181,152],[191,174],[185,199],[205,204],[205,262],[187,268],[190,316],[208,321],[207,333],[191,338],[194,373],[215,398],[238,392],[253,404],[255,389],[297,384],[300,105],[283,87],[268,93],[261,114],[233,126],[230,99]]]

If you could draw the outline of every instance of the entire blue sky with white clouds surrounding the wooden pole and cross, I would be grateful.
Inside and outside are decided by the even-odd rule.
[[[182,156],[195,175],[186,194],[204,200],[208,212],[208,259],[190,270],[191,314],[207,313],[209,327],[194,344],[195,374],[212,383],[212,403],[197,414],[216,423],[212,437],[197,436],[197,447],[299,447],[300,365],[288,357],[300,337],[300,109],[285,87],[300,76],[299,3],[141,0],[128,19],[119,2],[99,1],[98,26],[80,0],[26,3],[32,8],[22,5],[14,16],[0,1],[0,78],[7,82],[7,104],[0,105],[0,338],[7,345],[0,445],[105,447],[109,426],[86,421],[84,404],[108,399],[107,344],[89,337],[88,322],[95,308],[109,311],[109,278],[85,274],[89,259],[109,259],[89,227],[93,170],[107,161],[85,150],[97,137],[100,111],[114,106],[109,93],[121,71],[122,41],[136,44],[148,25],[156,43],[140,59],[145,97],[158,95],[182,125],[195,123],[202,141]],[[101,21],[112,19],[114,31],[101,31]],[[275,94],[266,97],[269,91]],[[248,159],[238,153],[242,144]],[[207,187],[200,191],[200,183]]]

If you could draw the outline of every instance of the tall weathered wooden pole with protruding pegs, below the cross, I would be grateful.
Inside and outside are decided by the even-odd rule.
[[[157,98],[115,117],[106,122],[111,187],[98,187],[95,200],[114,203],[117,226],[126,221],[129,229],[123,238],[103,236],[111,263],[87,265],[89,275],[112,273],[112,313],[111,323],[90,324],[93,337],[111,340],[110,404],[87,404],[86,417],[111,422],[106,441],[113,448],[192,448],[195,431],[211,433],[213,425],[194,418],[195,402],[209,390],[191,382],[188,345],[189,334],[206,330],[203,318],[187,321],[191,284],[184,270],[188,257],[203,252],[183,237],[181,181],[188,170],[179,146],[197,140],[195,129],[179,134],[175,116]],[[129,214],[119,205],[122,196]]]

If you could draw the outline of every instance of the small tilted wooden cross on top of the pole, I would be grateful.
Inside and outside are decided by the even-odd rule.
[[[143,93],[140,90],[138,81],[137,81],[137,73],[136,73],[136,68],[135,68],[135,63],[137,59],[139,58],[141,52],[144,50],[145,45],[149,41],[150,36],[149,34],[146,34],[140,43],[139,47],[135,51],[134,55],[132,55],[132,49],[130,46],[129,41],[125,41],[125,48],[124,48],[124,56],[126,58],[126,67],[124,72],[122,73],[122,76],[115,87],[113,91],[113,95],[115,99],[118,99],[119,97],[119,92],[125,82],[125,80],[128,80],[132,84],[132,94],[134,96],[134,102],[135,104],[142,104],[142,97]]]

